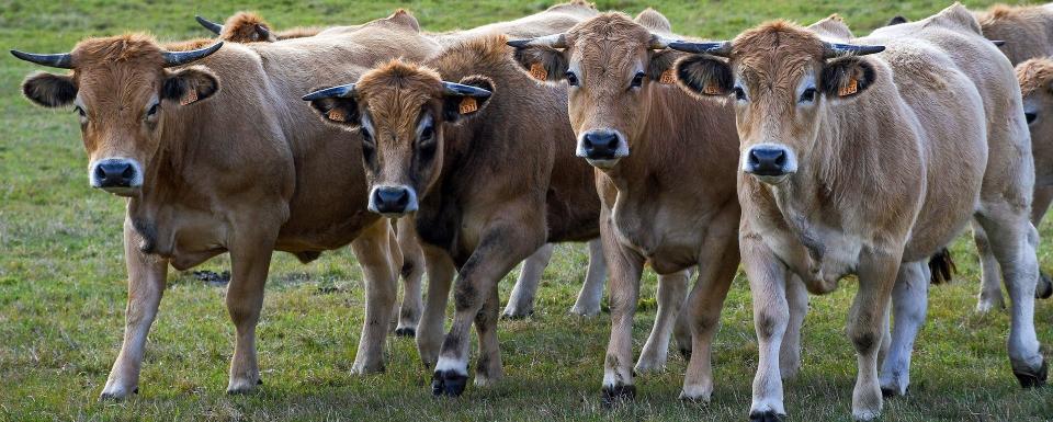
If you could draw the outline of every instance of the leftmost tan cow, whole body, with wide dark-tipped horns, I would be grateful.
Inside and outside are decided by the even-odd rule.
[[[12,50],[71,69],[31,75],[22,92],[42,106],[72,106],[91,186],[127,204],[124,343],[101,398],[138,391],[168,266],[186,270],[224,252],[233,266],[226,304],[237,329],[228,392],[261,384],[254,330],[274,250],[308,262],[351,243],[366,278],[351,370],[383,370],[398,248],[389,223],[367,209],[363,170],[348,166],[360,162],[361,139],[318,124],[294,93],[309,89],[308,80],[354,78],[378,60],[423,58],[437,45],[416,27],[399,11],[361,33],[285,45],[165,45],[126,34],[81,41],[71,53]]]

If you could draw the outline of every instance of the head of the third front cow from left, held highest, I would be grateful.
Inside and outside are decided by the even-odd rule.
[[[671,68],[682,54],[666,48],[670,39],[654,33],[668,30],[668,21],[653,10],[636,20],[605,13],[564,34],[509,45],[533,78],[566,81],[577,155],[608,170],[644,147],[650,92],[676,81]]]

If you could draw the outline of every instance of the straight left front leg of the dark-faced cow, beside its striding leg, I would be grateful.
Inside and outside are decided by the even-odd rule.
[[[422,244],[428,271],[428,301],[417,331],[417,351],[424,367],[434,369],[442,345],[443,326],[446,322],[446,303],[450,300],[450,283],[457,272],[456,265],[445,251]]]

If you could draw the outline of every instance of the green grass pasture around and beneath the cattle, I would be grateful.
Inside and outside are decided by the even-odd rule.
[[[49,53],[80,38],[149,31],[162,39],[204,36],[194,14],[225,18],[239,9],[275,26],[359,23],[407,8],[431,31],[471,27],[543,10],[537,0],[450,1],[12,1],[0,0],[0,46]],[[837,12],[857,33],[894,14],[916,19],[947,1],[600,1],[636,13],[653,5],[677,32],[731,37],[771,18],[811,22]],[[986,2],[970,2],[984,7]],[[707,407],[676,399],[684,362],[637,378],[638,399],[599,406],[610,320],[566,315],[585,275],[584,246],[561,246],[544,276],[536,313],[502,321],[506,381],[469,387],[460,399],[433,399],[411,340],[389,338],[387,373],[349,374],[363,312],[362,274],[347,250],[309,265],[276,254],[258,330],[267,383],[258,392],[227,396],[234,328],[223,287],[172,272],[154,326],[140,395],[98,402],[121,344],[125,271],[121,247],[124,202],[93,192],[76,117],[32,107],[18,85],[33,66],[0,58],[0,421],[67,420],[741,420],[750,400],[757,345],[749,292],[739,276],[716,338],[717,383]],[[1053,235],[1053,225],[1042,227]],[[933,288],[929,321],[914,354],[910,395],[886,401],[885,420],[1049,421],[1053,388],[1023,391],[1005,351],[1008,315],[973,312],[978,265],[970,242],[954,246],[963,274]],[[1040,260],[1053,269],[1053,248]],[[203,269],[222,271],[226,259]],[[501,285],[507,298],[513,277]],[[655,278],[648,274],[636,323],[638,351],[654,320]],[[804,367],[786,385],[796,421],[849,417],[856,360],[843,337],[853,283],[814,297],[804,328]],[[1039,338],[1053,344],[1053,301],[1038,304]],[[1050,358],[1049,349],[1046,350]]]

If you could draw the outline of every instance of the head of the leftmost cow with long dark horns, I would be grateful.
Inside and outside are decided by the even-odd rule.
[[[71,75],[37,72],[22,82],[30,101],[46,107],[72,105],[88,151],[92,187],[135,196],[150,174],[169,109],[193,106],[216,93],[207,69],[182,66],[215,53],[223,43],[168,52],[145,35],[91,38],[72,53],[29,54],[23,60],[72,69]]]

